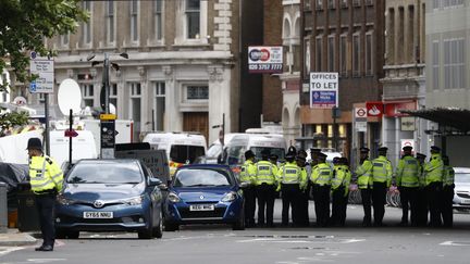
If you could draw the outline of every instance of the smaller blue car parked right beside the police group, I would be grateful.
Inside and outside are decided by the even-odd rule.
[[[165,200],[164,228],[186,224],[230,224],[245,229],[240,185],[226,165],[195,164],[180,167]]]

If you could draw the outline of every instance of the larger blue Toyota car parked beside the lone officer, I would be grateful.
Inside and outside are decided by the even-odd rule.
[[[161,238],[160,188],[166,186],[139,160],[81,160],[66,174],[57,199],[57,236],[136,231],[141,239]]]

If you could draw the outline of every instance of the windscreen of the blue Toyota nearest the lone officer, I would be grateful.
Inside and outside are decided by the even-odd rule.
[[[77,163],[67,175],[69,184],[139,184],[143,181],[137,162]]]

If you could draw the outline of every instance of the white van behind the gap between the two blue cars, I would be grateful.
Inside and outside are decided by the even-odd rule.
[[[193,163],[207,151],[206,138],[200,134],[149,133],[143,142],[148,142],[152,149],[165,150],[170,165]]]

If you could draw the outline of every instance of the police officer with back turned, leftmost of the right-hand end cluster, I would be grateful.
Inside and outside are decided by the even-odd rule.
[[[401,222],[399,225],[408,225],[408,210],[411,209],[411,225],[417,226],[417,194],[419,188],[420,165],[418,160],[411,154],[411,146],[404,147],[403,151],[404,155],[396,167],[396,186],[400,193],[403,211]]]

